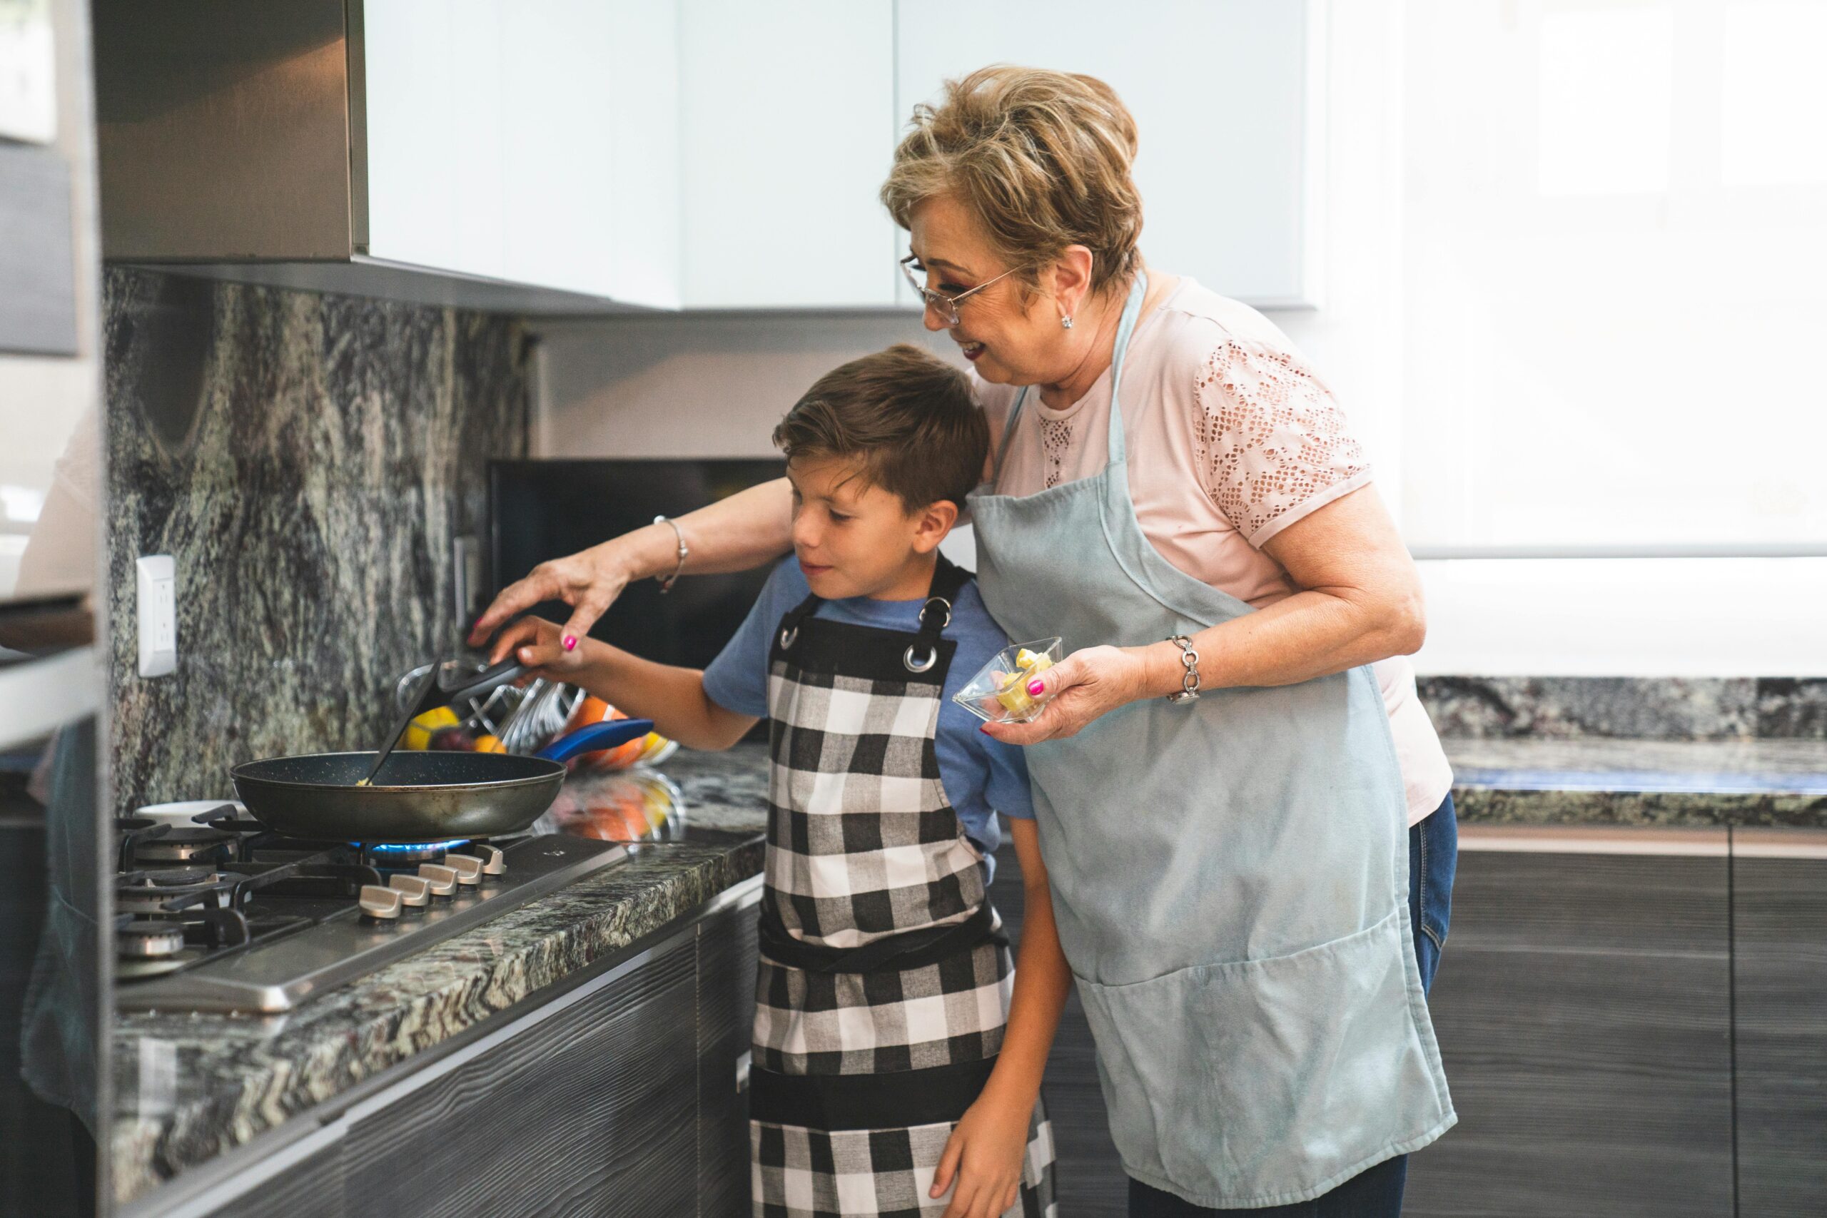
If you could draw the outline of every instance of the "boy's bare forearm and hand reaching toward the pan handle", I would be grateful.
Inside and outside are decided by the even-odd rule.
[[[619,710],[652,719],[656,732],[687,749],[729,749],[756,723],[711,701],[698,668],[656,665],[596,639],[565,650],[559,628],[539,617],[502,630],[491,661],[510,652],[535,676],[581,685]]]

